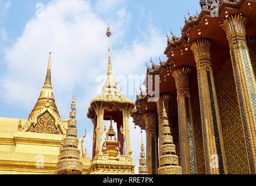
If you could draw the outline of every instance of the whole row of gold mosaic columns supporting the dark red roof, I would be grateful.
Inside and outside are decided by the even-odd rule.
[[[221,24],[229,41],[230,56],[233,64],[234,79],[239,99],[239,108],[243,121],[244,134],[246,137],[246,149],[250,161],[251,173],[255,174],[256,168],[256,83],[255,83],[255,40],[246,40],[247,18],[243,15],[231,15],[225,17]],[[200,97],[202,136],[205,149],[205,168],[207,174],[227,173],[226,157],[223,148],[223,136],[221,120],[219,116],[218,101],[212,71],[211,49],[212,41],[207,38],[194,41],[191,50],[197,67],[198,92]],[[251,54],[251,55],[250,55]],[[179,113],[179,141],[180,141],[180,164],[183,174],[196,174],[193,115],[191,114],[190,101],[190,67],[179,67],[173,71],[177,89],[177,105]],[[162,164],[162,130],[164,110],[169,114],[170,96],[162,95],[157,102],[158,113],[148,112],[143,115],[145,131],[147,133],[147,167],[150,174],[168,174],[161,167]],[[158,117],[158,128],[157,128]],[[166,115],[166,117],[168,117]],[[158,165],[158,136],[160,158]],[[154,139],[154,140],[152,140]],[[152,141],[154,144],[152,144]],[[155,146],[153,149],[152,146]],[[170,154],[175,154],[175,145],[169,147]],[[154,155],[154,156],[153,156]],[[212,166],[212,156],[218,157],[217,166]],[[152,159],[152,157],[155,157]],[[161,171],[159,171],[159,169]],[[157,171],[158,169],[158,171]],[[179,170],[176,169],[176,173]]]

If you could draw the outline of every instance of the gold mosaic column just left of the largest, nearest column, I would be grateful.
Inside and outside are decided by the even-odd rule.
[[[212,71],[211,44],[207,39],[197,40],[191,45],[191,50],[197,66],[206,173],[225,174],[225,151]]]

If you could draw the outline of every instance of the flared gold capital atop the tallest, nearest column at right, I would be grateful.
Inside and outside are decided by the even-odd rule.
[[[229,42],[233,42],[235,40],[245,40],[247,22],[247,17],[240,14],[226,17],[223,20],[221,27],[226,32],[227,40]]]

